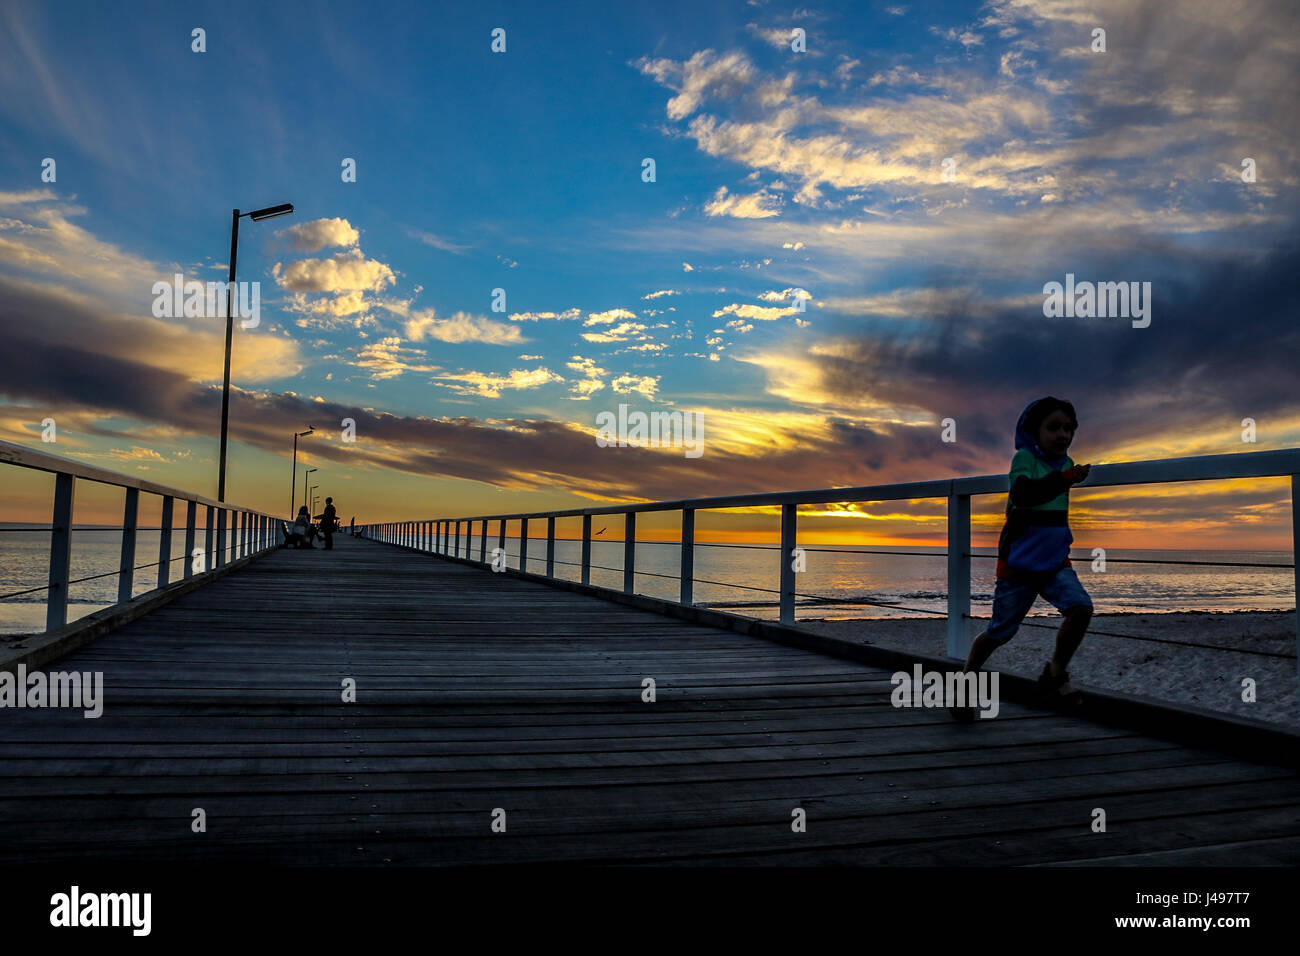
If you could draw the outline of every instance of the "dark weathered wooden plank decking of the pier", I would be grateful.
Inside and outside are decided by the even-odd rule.
[[[0,862],[1300,862],[1286,767],[347,537],[43,670],[104,715],[0,710]]]

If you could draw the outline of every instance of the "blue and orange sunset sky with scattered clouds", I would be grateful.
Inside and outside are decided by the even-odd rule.
[[[0,7],[0,440],[214,496],[224,317],[155,284],[292,203],[240,220],[239,505],[289,509],[308,425],[298,481],[359,523],[1005,473],[1045,394],[1078,462],[1300,446],[1294,3],[308,9]],[[1149,282],[1149,324],[1046,316],[1067,274]],[[703,454],[602,447],[620,405]],[[0,520],[48,520],[0,472]],[[801,540],[942,542],[945,507]],[[1290,549],[1290,485],[1076,489],[1071,525]]]

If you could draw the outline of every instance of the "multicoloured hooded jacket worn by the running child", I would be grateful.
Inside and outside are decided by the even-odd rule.
[[[1049,457],[1024,421],[1043,399],[1020,412],[1015,423],[1006,524],[997,541],[997,576],[1017,583],[1050,576],[1070,566],[1070,485],[1078,477],[1069,455]]]

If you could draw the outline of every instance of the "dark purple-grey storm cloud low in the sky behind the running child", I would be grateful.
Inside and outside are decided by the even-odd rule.
[[[1035,306],[978,319],[958,308],[927,319],[919,333],[876,326],[850,337],[849,349],[824,360],[823,385],[842,398],[871,394],[950,415],[959,441],[998,453],[1010,450],[1020,410],[1044,394],[1075,403],[1079,442],[1092,447],[1201,437],[1240,451],[1243,418],[1266,432],[1270,418],[1294,415],[1296,239],[1260,258],[1201,263],[1195,274],[1112,268],[1078,278],[1149,278],[1149,328],[1048,319]]]

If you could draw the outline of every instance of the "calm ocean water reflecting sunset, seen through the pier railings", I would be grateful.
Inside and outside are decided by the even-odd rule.
[[[202,541],[202,531],[200,531]],[[488,553],[497,546],[489,536]],[[139,531],[136,564],[157,561],[159,532]],[[555,542],[558,578],[578,580],[581,558],[577,541]],[[172,536],[172,580],[183,570],[183,532]],[[507,537],[510,567],[519,566],[519,538]],[[800,618],[896,618],[935,617],[946,610],[946,558],[937,548],[857,548],[811,545],[807,570],[796,576],[801,594]],[[888,550],[888,554],[870,553]],[[69,620],[105,607],[117,597],[116,568],[121,553],[121,532],[113,528],[73,531],[72,578],[96,574],[107,576],[73,584],[69,588]],[[478,557],[480,538],[473,536],[472,557]],[[993,598],[994,549],[974,549],[984,555],[971,559],[971,613],[987,615]],[[1280,610],[1295,607],[1295,578],[1290,567],[1265,567],[1292,562],[1291,551],[1210,551],[1210,550],[1128,550],[1106,553],[1106,570],[1092,570],[1088,551],[1071,555],[1083,585],[1092,594],[1098,613],[1106,611],[1235,611]],[[18,531],[0,525],[0,596],[40,587],[48,579],[48,529]],[[1228,562],[1213,563],[1126,563]],[[564,563],[569,562],[569,563]],[[623,587],[623,542],[592,542],[592,583],[607,588]],[[1242,567],[1240,564],[1247,564]],[[676,600],[679,596],[679,546],[675,542],[638,542],[636,548],[640,593]],[[612,568],[612,570],[610,570]],[[528,570],[546,570],[545,538],[529,538]],[[777,615],[772,593],[780,580],[779,549],[775,546],[696,545],[697,604],[732,610],[755,618]],[[136,571],[133,594],[151,591],[157,567]],[[22,633],[44,627],[46,592],[36,591],[0,601],[0,633]],[[927,613],[928,611],[928,613]],[[1039,602],[1035,614],[1053,614]]]

